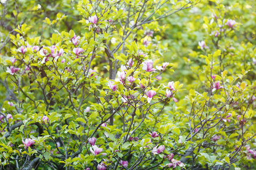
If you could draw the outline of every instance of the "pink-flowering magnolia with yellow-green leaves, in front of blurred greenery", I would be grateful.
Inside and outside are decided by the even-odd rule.
[[[246,79],[250,63],[232,73],[234,48],[225,39],[240,24],[226,18],[224,5],[216,3],[213,15],[205,16],[208,37],[191,53],[204,59],[201,88],[185,90],[164,78],[175,63],[163,61],[168,45],[161,21],[198,3],[79,1],[71,10],[79,11],[76,27],[85,30],[53,28],[64,19],[57,14],[44,18],[54,31],[49,38],[32,34],[29,23],[18,25],[7,36],[10,57],[1,59],[1,167],[250,167],[256,158],[255,82]],[[252,45],[240,53],[255,54],[247,48]],[[181,97],[184,91],[189,94]]]

